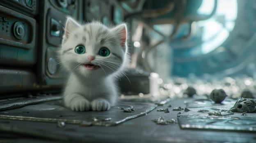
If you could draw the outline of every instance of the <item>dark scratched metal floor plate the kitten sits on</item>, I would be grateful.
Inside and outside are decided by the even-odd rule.
[[[110,110],[104,112],[75,112],[62,106],[60,101],[48,102],[47,104],[28,105],[18,109],[12,109],[0,112],[1,119],[74,123],[80,125],[101,125],[112,126],[119,125],[139,116],[144,116],[155,109],[157,105],[152,103],[130,103],[121,102]],[[135,112],[123,112],[121,108],[133,108]],[[94,121],[93,118],[108,121]]]

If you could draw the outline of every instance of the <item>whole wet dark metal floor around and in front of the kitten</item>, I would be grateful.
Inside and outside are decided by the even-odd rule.
[[[29,105],[20,109],[2,111],[0,115],[9,116],[11,114],[27,117],[29,117],[28,115],[34,115],[34,118],[53,117],[58,119],[58,121],[59,119],[66,119],[66,121],[53,121],[49,123],[0,119],[0,125],[3,124],[3,127],[5,127],[0,128],[0,131],[9,132],[12,136],[14,134],[26,135],[35,139],[50,139],[62,143],[88,143],[90,141],[112,143],[255,142],[255,132],[253,131],[256,125],[254,121],[254,118],[256,118],[255,113],[246,113],[245,116],[242,116],[238,112],[225,116],[208,114],[209,112],[215,111],[222,113],[229,111],[236,101],[229,101],[229,99],[225,99],[222,104],[210,103],[210,105],[206,105],[205,107],[187,107],[191,111],[185,112],[186,105],[191,105],[191,103],[198,100],[198,98],[174,99],[168,104],[156,107],[153,111],[147,112],[147,115],[145,111],[154,107],[154,103],[121,101],[117,106],[112,107],[110,111],[106,112],[73,112],[63,108],[62,102],[51,101],[39,105]],[[184,101],[186,101],[186,104]],[[172,107],[168,107],[170,104]],[[172,109],[174,107],[182,107],[184,110],[173,111]],[[134,109],[135,112],[123,112],[121,108]],[[166,108],[169,109],[170,113],[157,111],[157,109]],[[198,112],[200,110],[202,112]],[[144,112],[144,114],[141,114],[141,112]],[[136,115],[139,118],[133,118]],[[130,118],[132,120],[128,120]],[[73,120],[82,121],[82,123],[68,123],[68,121]],[[241,125],[244,120],[247,121],[246,125]],[[120,122],[118,125],[112,127],[102,126],[110,125],[109,123],[115,121]],[[235,127],[235,129],[229,132],[231,127]],[[239,127],[243,128],[237,130]],[[248,127],[249,130],[247,130]],[[218,132],[214,130],[218,130]]]

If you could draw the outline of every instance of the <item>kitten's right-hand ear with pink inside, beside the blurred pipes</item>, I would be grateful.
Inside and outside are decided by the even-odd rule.
[[[126,40],[127,40],[127,27],[126,24],[117,25],[117,27],[114,27],[111,29],[111,31],[114,31],[117,36],[120,37],[121,40],[121,46],[125,47]]]

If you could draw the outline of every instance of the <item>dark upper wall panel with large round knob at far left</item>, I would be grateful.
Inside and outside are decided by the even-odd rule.
[[[34,65],[36,29],[36,20],[0,5],[0,65]]]

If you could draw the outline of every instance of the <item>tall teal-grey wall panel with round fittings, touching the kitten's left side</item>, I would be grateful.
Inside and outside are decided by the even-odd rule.
[[[80,17],[79,0],[42,0],[39,18],[39,62],[37,77],[40,85],[63,85],[66,74],[57,64],[66,16]]]

